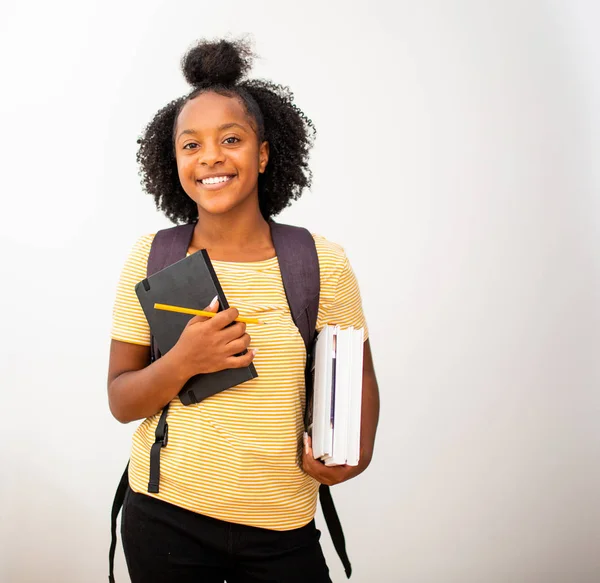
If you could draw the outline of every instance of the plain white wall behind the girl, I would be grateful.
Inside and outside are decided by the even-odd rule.
[[[136,138],[187,90],[186,48],[227,33],[319,132],[281,218],[344,245],[362,289],[382,411],[372,466],[334,489],[353,581],[600,580],[597,3],[2,13],[1,581],[106,580],[135,429],[107,406],[113,296],[168,225]]]

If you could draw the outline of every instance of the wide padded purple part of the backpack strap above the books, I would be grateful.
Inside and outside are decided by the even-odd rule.
[[[300,330],[307,353],[310,353],[317,326],[321,287],[315,240],[302,227],[282,225],[275,221],[269,224],[292,319]]]

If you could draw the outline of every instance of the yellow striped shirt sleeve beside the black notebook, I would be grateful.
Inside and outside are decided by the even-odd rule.
[[[150,346],[150,327],[135,293],[135,285],[146,277],[153,238],[153,235],[140,237],[121,270],[113,307],[113,340]]]

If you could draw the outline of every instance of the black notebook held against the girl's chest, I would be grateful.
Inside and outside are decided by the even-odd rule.
[[[140,281],[135,286],[135,293],[161,354],[166,354],[173,348],[193,316],[157,310],[154,308],[155,303],[204,310],[214,297],[218,296],[219,311],[229,308],[205,249],[188,255]],[[244,368],[199,374],[187,381],[179,393],[179,398],[184,405],[199,403],[206,397],[257,376],[253,364]]]

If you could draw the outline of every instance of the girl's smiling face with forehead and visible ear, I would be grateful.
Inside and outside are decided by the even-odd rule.
[[[175,158],[181,186],[198,211],[224,214],[258,206],[258,174],[269,158],[238,98],[202,93],[177,118]]]

